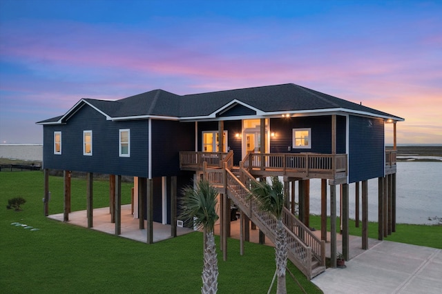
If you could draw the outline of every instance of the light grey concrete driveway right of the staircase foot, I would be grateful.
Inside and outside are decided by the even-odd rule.
[[[324,293],[441,293],[441,257],[441,249],[383,241],[312,282]]]

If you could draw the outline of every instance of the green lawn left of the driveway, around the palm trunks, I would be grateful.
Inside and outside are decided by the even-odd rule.
[[[50,214],[63,211],[63,179],[50,177]],[[131,184],[122,184],[123,203]],[[108,206],[108,182],[94,182],[94,207]],[[0,288],[3,293],[198,293],[202,233],[155,244],[64,224],[43,215],[41,172],[0,172]],[[8,199],[23,197],[22,211],[7,210]],[[86,181],[72,179],[72,208],[86,209]],[[28,224],[30,231],[12,222]],[[218,246],[219,238],[215,239]],[[218,251],[218,293],[265,293],[275,271],[274,250],[229,239],[228,260]],[[307,293],[322,293],[291,263]],[[276,292],[276,284],[273,292]],[[287,292],[302,293],[287,274]]]

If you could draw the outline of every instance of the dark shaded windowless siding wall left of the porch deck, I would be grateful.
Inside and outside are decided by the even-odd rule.
[[[180,151],[195,150],[195,123],[152,120],[152,177],[180,174]]]

